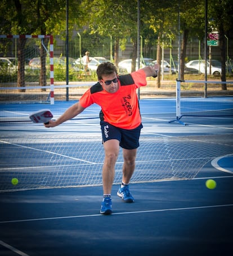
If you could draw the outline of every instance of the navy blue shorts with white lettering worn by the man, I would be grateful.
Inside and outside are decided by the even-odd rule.
[[[123,149],[137,149],[139,147],[142,124],[131,130],[118,128],[104,121],[101,121],[100,125],[104,142],[115,139],[119,140],[120,146]]]

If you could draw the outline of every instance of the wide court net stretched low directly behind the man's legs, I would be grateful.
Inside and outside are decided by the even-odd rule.
[[[206,163],[232,153],[229,136],[217,137],[141,136],[131,183],[194,178]],[[0,157],[0,192],[102,184],[104,151],[99,136],[72,132],[20,136],[9,131],[0,140]],[[114,184],[122,181],[122,164],[120,152]],[[17,185],[11,184],[13,177],[19,180]]]

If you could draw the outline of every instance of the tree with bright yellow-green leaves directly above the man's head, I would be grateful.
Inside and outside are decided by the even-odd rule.
[[[119,45],[124,44],[125,38],[131,38],[133,45],[137,46],[137,0],[84,0],[82,7],[86,12],[82,22],[91,29],[91,34],[113,38],[114,62],[118,66]],[[136,59],[136,55],[133,57]]]

